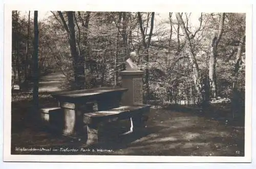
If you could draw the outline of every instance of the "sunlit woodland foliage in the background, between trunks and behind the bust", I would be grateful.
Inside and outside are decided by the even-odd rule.
[[[66,12],[62,13],[67,21]],[[39,68],[41,71],[62,71],[66,76],[64,87],[71,88],[74,85],[74,69],[68,34],[58,13],[54,11],[51,14],[47,19],[38,23]],[[148,99],[169,104],[196,104],[195,72],[193,63],[189,59],[191,55],[189,51],[192,49],[194,52],[201,78],[199,83],[204,87],[204,80],[209,78],[211,42],[219,28],[220,14],[202,13],[195,26],[191,24],[189,13],[181,13],[189,34],[189,41],[185,38],[180,23],[172,12],[169,13],[169,18],[161,21],[159,21],[159,14],[155,14],[153,33],[150,37],[152,14],[146,12],[74,12],[77,52],[79,57],[84,58],[86,62],[84,66],[85,87],[121,85],[119,72],[123,67],[120,65],[129,57],[131,51],[136,51],[137,65],[145,72],[148,70],[148,77],[145,76],[143,79],[144,90],[147,90],[148,78],[150,94]],[[12,20],[12,67],[14,74],[19,72],[20,79],[22,79],[19,81],[23,81],[25,63],[29,63],[27,71],[31,71],[32,66],[32,45],[29,47],[28,60],[23,57],[26,55],[28,16],[22,16],[19,12],[13,11]],[[30,21],[30,44],[33,43],[32,22],[33,20]],[[245,14],[226,13],[223,34],[217,48],[218,97],[232,100],[236,56],[244,35]],[[147,45],[145,42],[149,39],[150,43]],[[242,64],[236,72],[238,91],[245,90],[244,52],[245,45],[243,44]],[[17,70],[18,68],[20,69]]]

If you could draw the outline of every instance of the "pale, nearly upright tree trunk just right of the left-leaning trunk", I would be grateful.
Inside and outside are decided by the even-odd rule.
[[[209,81],[210,81],[210,95],[213,98],[217,97],[217,84],[216,84],[216,61],[217,61],[217,47],[220,42],[223,26],[224,26],[225,13],[221,14],[219,22],[218,34],[215,34],[211,43],[211,54],[209,58]]]

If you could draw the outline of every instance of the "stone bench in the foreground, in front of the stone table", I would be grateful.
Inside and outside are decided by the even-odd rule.
[[[144,122],[147,120],[146,114],[150,111],[150,106],[146,104],[129,105],[83,114],[83,123],[87,125],[87,144],[91,145],[99,142],[98,130],[102,123],[131,119],[131,132],[144,127]]]

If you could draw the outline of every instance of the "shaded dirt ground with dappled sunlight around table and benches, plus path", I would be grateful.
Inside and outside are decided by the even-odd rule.
[[[57,105],[49,92],[61,90],[59,81],[62,78],[63,76],[55,73],[40,79],[40,106]],[[102,144],[87,146],[84,139],[67,138],[36,125],[29,114],[31,103],[30,92],[12,92],[12,154],[244,156],[244,124],[231,123],[226,115],[228,104],[216,106],[207,115],[193,107],[153,107],[144,129],[119,137],[105,138]],[[112,126],[123,127],[120,126],[123,124]],[[109,125],[108,131],[115,134],[116,130]],[[17,148],[23,147],[51,147],[58,151],[17,151]],[[59,151],[60,148],[79,151],[63,152]],[[80,151],[81,148],[87,151]],[[92,152],[93,150],[96,152]]]

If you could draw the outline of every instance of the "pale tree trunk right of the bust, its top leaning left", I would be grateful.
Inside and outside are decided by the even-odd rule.
[[[179,25],[181,26],[182,32],[185,35],[185,38],[188,42],[188,48],[190,52],[188,57],[193,67],[193,79],[194,79],[194,84],[196,89],[196,97],[198,98],[197,104],[201,105],[203,102],[203,94],[202,94],[202,85],[201,85],[201,75],[200,75],[199,67],[197,64],[196,55],[194,53],[193,45],[189,39],[188,32],[186,31],[186,27],[180,13],[176,13],[176,17],[179,22]]]

